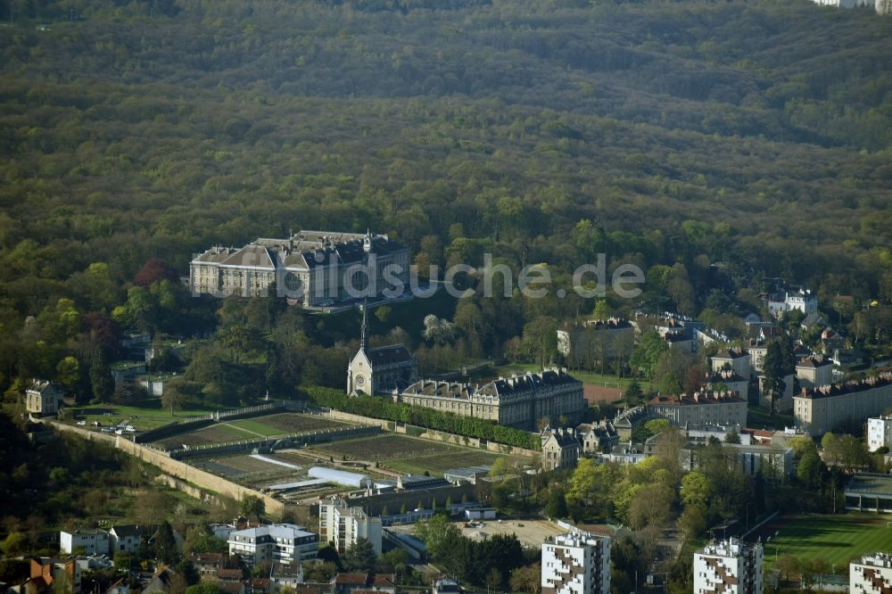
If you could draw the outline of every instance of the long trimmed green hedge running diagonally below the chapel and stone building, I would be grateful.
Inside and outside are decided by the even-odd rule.
[[[435,408],[415,407],[374,396],[351,398],[334,388],[317,385],[304,387],[303,392],[306,392],[310,400],[320,407],[335,408],[353,415],[382,418],[445,433],[467,435],[525,450],[539,450],[541,447],[541,439],[536,433],[506,427],[482,418],[458,417]]]

